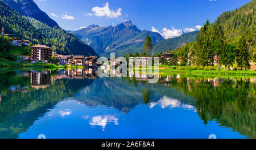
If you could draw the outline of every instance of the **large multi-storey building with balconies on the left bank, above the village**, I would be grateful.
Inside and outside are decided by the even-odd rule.
[[[46,45],[35,45],[31,46],[31,57],[32,61],[44,61],[48,62],[52,56],[52,48]]]

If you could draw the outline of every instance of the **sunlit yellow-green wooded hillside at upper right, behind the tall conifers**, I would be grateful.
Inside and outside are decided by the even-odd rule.
[[[250,55],[255,59],[255,37],[256,37],[256,1],[253,0],[234,11],[226,11],[221,14],[214,23],[221,25],[229,42],[236,37],[245,35],[249,44]],[[254,55],[254,56],[253,56]]]

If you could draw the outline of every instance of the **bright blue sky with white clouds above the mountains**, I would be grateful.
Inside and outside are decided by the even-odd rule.
[[[98,24],[116,25],[123,20],[141,30],[155,31],[166,38],[213,22],[224,11],[231,11],[250,0],[34,0],[60,27],[76,30]]]

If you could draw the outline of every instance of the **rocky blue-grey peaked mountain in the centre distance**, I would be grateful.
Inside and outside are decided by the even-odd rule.
[[[141,31],[131,23],[130,20],[112,27],[100,27],[99,25],[90,25],[86,28],[81,28],[78,31],[73,31],[86,44],[93,47],[98,55],[110,57],[110,53],[121,56],[123,53],[142,52],[144,40],[147,35],[152,38],[152,43],[155,45],[164,38],[156,32]]]

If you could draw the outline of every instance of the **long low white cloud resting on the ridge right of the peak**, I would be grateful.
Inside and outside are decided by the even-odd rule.
[[[174,38],[177,36],[181,36],[183,35],[183,33],[188,33],[188,32],[193,32],[193,31],[197,31],[201,28],[201,25],[196,25],[195,27],[192,28],[184,28],[184,29],[175,29],[174,27],[172,27],[171,29],[167,29],[167,28],[163,28],[162,29],[162,33],[160,33],[158,31],[158,29],[151,27],[151,31],[152,32],[157,32],[160,35],[162,35],[163,38]]]

